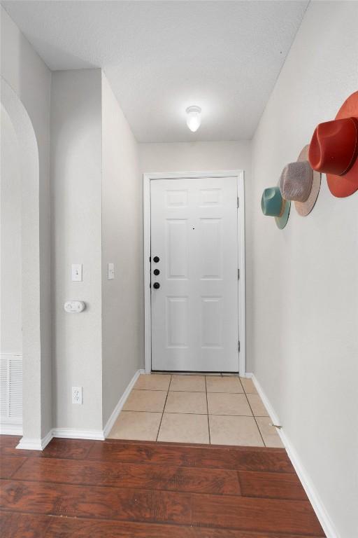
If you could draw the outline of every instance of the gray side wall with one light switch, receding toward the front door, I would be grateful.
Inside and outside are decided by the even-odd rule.
[[[102,74],[103,426],[143,367],[142,181],[138,144]],[[108,280],[108,262],[115,278]]]

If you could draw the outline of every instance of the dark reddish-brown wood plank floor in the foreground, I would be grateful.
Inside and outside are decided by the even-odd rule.
[[[281,448],[1,436],[1,538],[324,537]]]

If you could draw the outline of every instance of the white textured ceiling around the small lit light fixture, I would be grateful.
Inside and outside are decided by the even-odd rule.
[[[1,4],[50,69],[101,67],[139,142],[178,142],[252,137],[308,1]]]

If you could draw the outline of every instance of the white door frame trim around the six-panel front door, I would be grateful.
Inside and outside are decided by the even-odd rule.
[[[196,179],[206,177],[236,177],[238,184],[238,371],[246,372],[245,345],[245,189],[243,170],[215,172],[152,172],[143,174],[143,226],[144,226],[144,365],[145,373],[152,371],[152,315],[150,309],[150,181],[155,179]]]

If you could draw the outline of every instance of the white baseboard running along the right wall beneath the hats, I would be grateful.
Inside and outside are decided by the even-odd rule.
[[[246,377],[252,378],[252,381],[254,382],[257,392],[259,393],[259,396],[261,397],[273,424],[280,425],[280,420],[278,418],[278,415],[277,413],[275,413],[273,406],[271,405],[266,394],[264,393],[262,386],[259,384],[259,382],[255,378],[255,375],[246,374]],[[312,504],[313,510],[315,511],[315,514],[318,520],[320,521],[320,524],[322,525],[322,529],[324,530],[324,533],[326,534],[327,538],[340,538],[336,528],[334,527],[334,524],[331,521],[331,518],[329,517],[327,513],[327,510],[324,507],[324,504],[322,503],[322,500],[320,499],[320,495],[318,495],[315,486],[310,480],[310,476],[308,475],[305,467],[303,466],[301,462],[299,454],[296,452],[292,442],[287,437],[287,434],[285,433],[285,428],[282,427],[278,429],[277,431],[278,431],[278,434],[280,435],[282,443],[284,444],[287,450],[287,455],[289,459],[291,460],[292,465],[294,466],[294,470],[296,471],[296,474],[299,477],[301,484],[303,485],[303,489],[306,491],[308,499],[310,499],[310,504]]]

